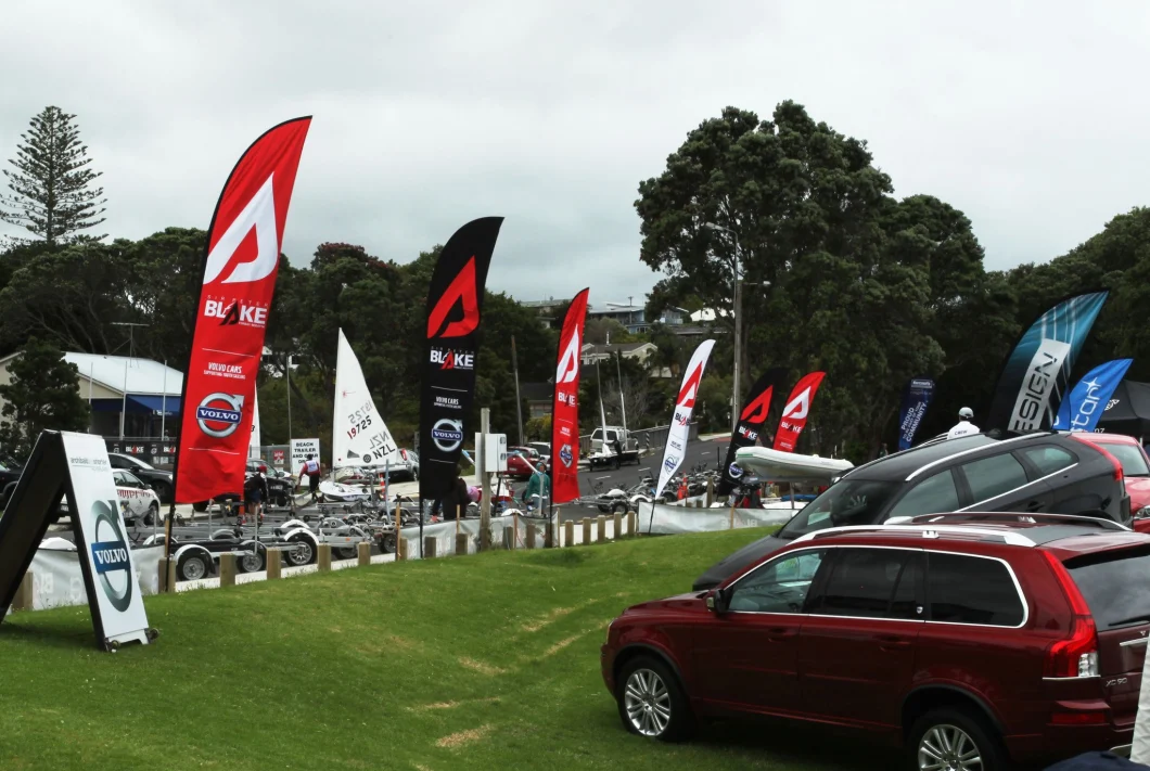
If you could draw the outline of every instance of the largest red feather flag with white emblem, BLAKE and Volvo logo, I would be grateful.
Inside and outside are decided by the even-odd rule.
[[[244,488],[255,376],[284,222],[312,118],[281,123],[247,148],[220,194],[181,400],[175,501]]]

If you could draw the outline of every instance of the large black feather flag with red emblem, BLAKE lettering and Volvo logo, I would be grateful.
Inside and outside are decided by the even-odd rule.
[[[483,217],[457,230],[431,276],[420,406],[421,499],[439,500],[455,481],[475,396],[483,291],[501,224],[503,217]]]

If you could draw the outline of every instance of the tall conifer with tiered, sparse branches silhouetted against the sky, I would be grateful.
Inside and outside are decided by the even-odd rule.
[[[105,219],[100,217],[103,188],[90,188],[101,172],[86,168],[91,159],[75,117],[59,107],[45,107],[32,117],[28,133],[20,136],[23,142],[9,160],[16,171],[3,172],[13,194],[0,196],[0,219],[52,247],[75,240],[79,231]]]

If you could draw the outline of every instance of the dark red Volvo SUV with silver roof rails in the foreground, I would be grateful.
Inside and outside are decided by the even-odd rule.
[[[603,678],[628,730],[696,718],[833,724],[911,768],[1128,745],[1150,631],[1150,535],[1068,515],[926,515],[796,539],[708,592],[612,622]]]

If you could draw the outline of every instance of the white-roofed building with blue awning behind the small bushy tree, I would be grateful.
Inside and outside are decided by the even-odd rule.
[[[0,358],[0,384],[20,352]],[[91,407],[91,433],[107,438],[160,439],[179,429],[184,373],[151,358],[66,353],[79,370],[76,388]],[[3,400],[0,400],[0,409]]]

